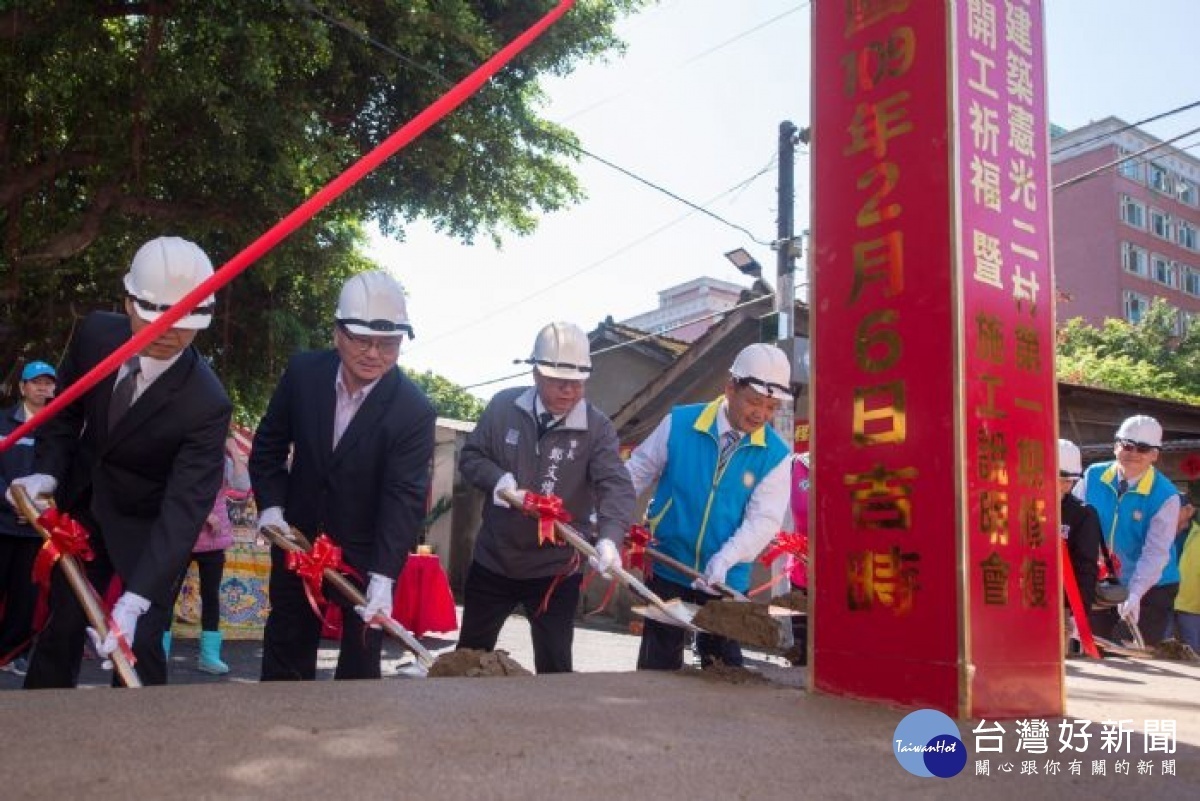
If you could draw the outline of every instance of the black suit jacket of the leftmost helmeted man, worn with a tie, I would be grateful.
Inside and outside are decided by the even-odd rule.
[[[131,333],[122,314],[88,315],[59,372],[62,386]],[[109,432],[115,380],[107,377],[43,426],[34,470],[56,477],[59,506],[95,526],[125,589],[168,604],[221,488],[233,405],[190,347]]]

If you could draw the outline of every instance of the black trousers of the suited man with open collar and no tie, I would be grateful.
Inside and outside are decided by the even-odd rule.
[[[349,577],[347,577],[349,578]],[[350,582],[362,589],[361,582]],[[287,568],[287,555],[271,546],[271,613],[263,632],[262,681],[312,681],[317,677],[317,650],[322,619],[313,612],[300,577]],[[334,679],[378,679],[383,632],[367,626],[337,590],[325,592],[342,608],[342,643]]]

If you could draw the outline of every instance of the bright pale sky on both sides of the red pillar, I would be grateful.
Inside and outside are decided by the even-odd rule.
[[[924,0],[923,0],[924,1]],[[1200,4],[1046,0],[1050,116],[1067,128],[1109,115],[1127,122],[1200,100]],[[372,255],[409,291],[418,338],[401,362],[461,385],[522,368],[545,323],[584,330],[658,305],[658,291],[698,276],[745,283],[726,251],[766,266],[775,231],[779,124],[809,121],[810,7],[800,0],[665,0],[620,25],[624,55],[545,84],[548,119],[590,152],[668,188],[726,225],[583,158],[588,199],[547,216],[500,249],[466,246],[424,224]],[[1200,127],[1200,109],[1147,130]],[[1181,145],[1200,143],[1189,137]],[[1194,151],[1196,152],[1196,151]],[[403,153],[400,155],[403,157]],[[796,229],[808,227],[809,169],[796,159]],[[745,231],[738,230],[744,228]],[[490,397],[506,383],[473,391]]]

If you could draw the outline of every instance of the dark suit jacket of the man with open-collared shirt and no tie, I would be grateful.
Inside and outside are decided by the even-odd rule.
[[[328,534],[364,578],[367,572],[396,578],[425,518],[437,415],[394,367],[335,450],[340,367],[335,350],[292,357],[254,434],[254,500],[259,510],[282,506],[288,523],[310,540]]]

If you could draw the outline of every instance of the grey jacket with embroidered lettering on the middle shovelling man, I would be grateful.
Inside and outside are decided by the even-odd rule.
[[[486,495],[475,561],[516,579],[563,572],[575,549],[539,546],[533,518],[492,502],[492,490],[505,472],[516,477],[521,489],[562,498],[575,529],[588,537],[611,540],[618,548],[636,500],[612,421],[581,401],[539,440],[535,393],[534,387],[498,392],[467,438],[458,462],[463,477]]]

